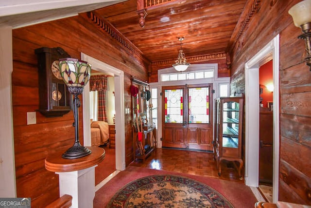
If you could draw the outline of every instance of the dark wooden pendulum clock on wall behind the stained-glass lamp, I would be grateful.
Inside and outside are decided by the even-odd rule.
[[[55,60],[70,57],[62,48],[35,49],[38,57],[39,112],[46,117],[63,116],[71,110],[71,95]],[[54,63],[53,63],[54,62]]]

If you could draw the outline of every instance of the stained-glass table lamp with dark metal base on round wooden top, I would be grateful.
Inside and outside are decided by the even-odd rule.
[[[91,153],[89,149],[81,146],[79,142],[79,110],[80,100],[78,95],[82,94],[84,86],[87,84],[91,65],[85,61],[75,58],[63,58],[56,60],[58,62],[59,73],[65,84],[68,86],[68,91],[73,95],[73,115],[75,127],[75,142],[63,155],[66,159],[76,159],[84,157]]]

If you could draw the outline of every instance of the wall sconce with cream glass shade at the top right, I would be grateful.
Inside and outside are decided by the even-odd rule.
[[[299,39],[304,39],[306,44],[307,57],[306,64],[311,71],[311,0],[303,0],[295,4],[288,13],[292,16],[294,25],[300,27],[303,34],[298,36]]]

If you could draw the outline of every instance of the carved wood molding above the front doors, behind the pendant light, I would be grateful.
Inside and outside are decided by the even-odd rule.
[[[226,59],[226,58],[227,58],[227,54],[225,52],[220,52],[220,53],[213,53],[213,54],[205,54],[205,55],[200,55],[200,56],[187,57],[187,62],[197,63],[197,62],[219,60],[219,59]],[[152,65],[154,65],[154,66],[172,65],[174,63],[174,61],[175,61],[175,59],[153,61]]]

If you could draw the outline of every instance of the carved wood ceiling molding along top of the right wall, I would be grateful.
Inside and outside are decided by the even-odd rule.
[[[260,4],[261,4],[261,0],[253,0],[253,2],[251,4],[245,5],[245,10],[244,10],[245,12],[242,13],[240,20],[238,21],[237,26],[236,26],[234,32],[232,33],[232,36],[231,36],[232,45],[229,48],[233,49],[235,47],[236,43],[242,37],[242,35],[245,31],[245,28],[249,24],[254,13],[260,7]],[[247,7],[248,7],[248,9],[247,9]],[[233,37],[235,37],[235,38],[232,39]]]

